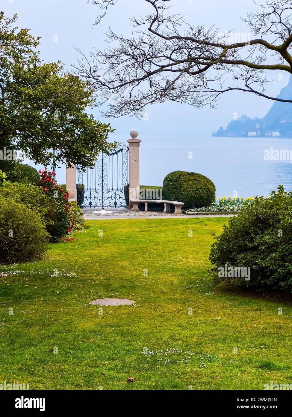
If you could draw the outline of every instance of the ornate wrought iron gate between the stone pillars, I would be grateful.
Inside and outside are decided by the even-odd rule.
[[[77,201],[81,207],[126,207],[128,185],[127,143],[117,142],[112,153],[100,152],[93,169],[77,167]]]

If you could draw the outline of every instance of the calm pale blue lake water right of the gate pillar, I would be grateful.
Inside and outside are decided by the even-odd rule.
[[[141,137],[140,137],[141,136]],[[142,137],[140,184],[162,185],[171,171],[193,171],[210,178],[216,197],[268,196],[282,184],[292,190],[292,163],[265,161],[264,151],[292,149],[292,138]],[[125,141],[125,139],[123,140]],[[189,153],[192,152],[192,159]],[[292,152],[291,152],[292,154]]]

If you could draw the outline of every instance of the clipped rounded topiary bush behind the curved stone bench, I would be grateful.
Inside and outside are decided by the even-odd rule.
[[[215,185],[204,175],[174,171],[164,178],[162,197],[182,201],[184,209],[210,206],[215,200]]]

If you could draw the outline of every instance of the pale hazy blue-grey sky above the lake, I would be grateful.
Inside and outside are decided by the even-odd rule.
[[[88,4],[87,0],[0,0],[0,4],[6,15],[17,13],[19,27],[30,28],[33,35],[42,37],[40,50],[45,61],[61,60],[63,63],[76,63],[78,53],[75,48],[85,53],[93,47],[102,48],[105,45],[103,33],[108,25],[117,33],[126,34],[130,30],[129,17],[152,11],[150,5],[142,0],[119,0],[102,24],[95,26],[93,23],[99,8]],[[172,11],[185,15],[188,23],[215,24],[223,33],[229,30],[246,32],[248,29],[240,16],[255,8],[252,0],[174,0],[172,4]],[[277,94],[287,84],[287,75],[284,74],[282,81],[278,81],[277,75],[267,90],[269,93]],[[226,126],[235,112],[238,116],[245,113],[250,117],[261,117],[271,105],[271,101],[255,95],[231,92],[222,95],[217,109],[163,103],[148,106],[147,120],[124,116],[112,119],[110,123],[117,129],[116,136],[129,136],[132,128],[137,128],[144,137],[147,134],[209,134],[220,126]],[[98,108],[94,114],[102,120]]]

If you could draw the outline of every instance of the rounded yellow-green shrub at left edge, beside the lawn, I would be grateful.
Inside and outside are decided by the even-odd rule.
[[[40,216],[23,204],[0,198],[0,262],[41,259],[49,234]]]

